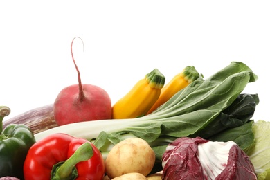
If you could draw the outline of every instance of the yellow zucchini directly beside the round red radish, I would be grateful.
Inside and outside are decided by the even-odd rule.
[[[139,80],[134,87],[112,107],[112,118],[137,118],[144,116],[161,94],[165,83],[164,75],[154,69]]]

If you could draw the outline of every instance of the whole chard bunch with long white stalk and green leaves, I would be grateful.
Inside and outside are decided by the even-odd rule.
[[[162,170],[161,159],[168,143],[180,137],[234,141],[244,150],[254,141],[251,117],[259,99],[257,94],[241,92],[257,78],[246,64],[232,62],[206,80],[199,75],[147,116],[73,123],[40,132],[35,138],[39,141],[57,132],[87,138],[100,149],[104,159],[120,141],[142,138],[156,154],[156,170]]]

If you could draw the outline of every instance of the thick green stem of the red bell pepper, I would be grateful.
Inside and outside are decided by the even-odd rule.
[[[74,154],[69,157],[69,159],[64,161],[64,163],[60,164],[60,167],[55,169],[55,173],[53,173],[53,177],[51,177],[51,179],[72,179],[72,172],[75,168],[75,165],[82,161],[87,161],[91,158],[91,156],[93,156],[93,149],[91,144],[88,142],[83,143],[80,145],[80,147],[78,147]]]

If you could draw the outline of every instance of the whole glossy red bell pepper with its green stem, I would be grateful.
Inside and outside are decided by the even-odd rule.
[[[98,148],[84,138],[52,134],[37,141],[24,161],[24,178],[103,179],[105,162]]]

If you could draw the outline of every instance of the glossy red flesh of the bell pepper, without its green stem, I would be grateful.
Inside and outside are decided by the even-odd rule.
[[[24,162],[24,179],[46,180],[51,179],[53,165],[66,161],[83,143],[90,143],[84,138],[73,138],[68,134],[52,134],[37,141],[26,156]],[[75,165],[78,171],[77,180],[101,180],[105,174],[105,163],[102,154],[92,143],[93,156],[87,161]]]

